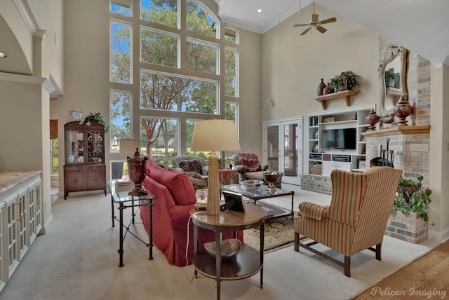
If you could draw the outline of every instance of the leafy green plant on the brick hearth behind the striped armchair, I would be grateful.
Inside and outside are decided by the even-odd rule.
[[[394,199],[393,212],[401,211],[403,214],[415,212],[421,214],[424,221],[429,221],[429,203],[431,203],[431,189],[422,186],[423,176],[399,179],[398,191]],[[432,225],[434,225],[432,223]]]

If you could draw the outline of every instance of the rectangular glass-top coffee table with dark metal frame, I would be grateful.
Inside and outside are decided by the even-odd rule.
[[[283,189],[276,189],[276,191],[267,190],[267,186],[260,186],[259,189],[248,190],[245,186],[241,184],[229,184],[220,186],[222,191],[232,191],[234,193],[239,193],[246,198],[250,198],[254,201],[255,205],[262,207],[267,212],[267,217],[265,219],[276,219],[280,217],[291,216],[293,219],[293,197],[295,196],[295,191],[286,191]],[[292,207],[291,210],[286,210],[281,207],[274,205],[269,205],[268,203],[258,203],[257,200],[281,197],[281,196],[292,196]]]

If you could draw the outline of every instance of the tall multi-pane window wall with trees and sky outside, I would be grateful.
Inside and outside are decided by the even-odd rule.
[[[112,143],[141,139],[142,153],[163,161],[189,151],[196,120],[238,124],[238,29],[199,0],[110,4]]]

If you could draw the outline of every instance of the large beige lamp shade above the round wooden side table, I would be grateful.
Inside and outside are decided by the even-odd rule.
[[[192,151],[238,151],[240,142],[234,121],[202,120],[195,122]]]

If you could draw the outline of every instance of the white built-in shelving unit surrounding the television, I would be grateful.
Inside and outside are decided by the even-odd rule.
[[[365,160],[366,116],[369,108],[316,113],[308,116],[307,165],[309,175],[330,176],[334,169],[356,170],[358,161]],[[321,133],[325,129],[356,128],[356,149],[328,150],[323,148]]]

